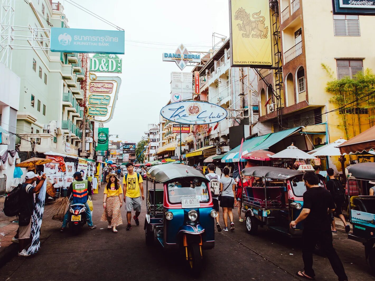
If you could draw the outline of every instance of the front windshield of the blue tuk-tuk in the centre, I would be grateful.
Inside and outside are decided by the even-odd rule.
[[[210,199],[208,196],[208,184],[197,180],[180,180],[167,183],[168,200],[171,203],[181,203],[181,197],[196,196],[199,202],[206,203]]]

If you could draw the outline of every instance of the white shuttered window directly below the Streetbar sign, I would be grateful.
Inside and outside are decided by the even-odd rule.
[[[333,15],[335,36],[361,36],[359,17],[353,15]]]

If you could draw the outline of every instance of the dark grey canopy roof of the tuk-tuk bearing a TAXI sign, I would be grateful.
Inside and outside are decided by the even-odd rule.
[[[275,167],[249,167],[242,170],[241,175],[255,176],[258,178],[288,179],[293,176],[302,175],[302,171]]]

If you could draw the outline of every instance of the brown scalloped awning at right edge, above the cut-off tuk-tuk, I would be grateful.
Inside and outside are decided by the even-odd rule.
[[[342,154],[375,151],[375,126],[337,146]]]

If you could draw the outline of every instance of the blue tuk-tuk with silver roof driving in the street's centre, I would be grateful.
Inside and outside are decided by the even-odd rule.
[[[160,242],[166,250],[179,250],[193,273],[202,268],[202,250],[214,247],[214,219],[209,181],[186,165],[158,165],[147,170],[146,244]],[[150,181],[151,182],[151,181]],[[156,188],[156,182],[163,184]]]

